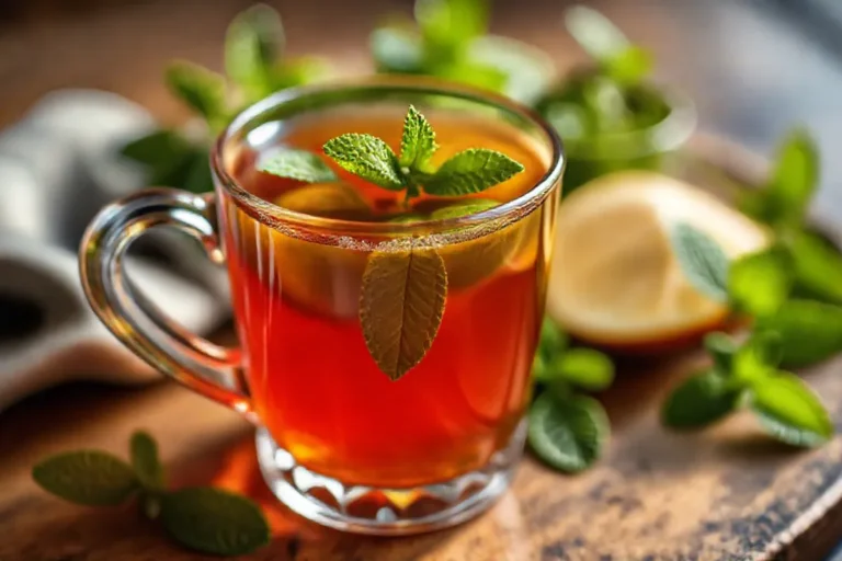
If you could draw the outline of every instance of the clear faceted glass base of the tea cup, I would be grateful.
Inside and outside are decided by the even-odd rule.
[[[258,431],[258,462],[269,488],[299,515],[357,534],[402,536],[453,526],[478,515],[512,479],[526,436],[521,422],[509,446],[480,470],[407,489],[351,485],[299,466],[265,428]]]

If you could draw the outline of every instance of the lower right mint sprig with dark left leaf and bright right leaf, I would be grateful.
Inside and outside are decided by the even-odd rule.
[[[664,425],[698,430],[749,408],[773,437],[813,447],[833,436],[833,424],[818,396],[797,376],[778,369],[782,339],[759,331],[743,345],[724,333],[706,341],[714,366],[672,390],[661,409]]]

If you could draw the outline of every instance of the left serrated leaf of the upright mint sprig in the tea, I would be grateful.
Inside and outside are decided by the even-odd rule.
[[[372,135],[346,134],[325,144],[325,153],[343,170],[384,188],[401,191],[406,181],[389,145]]]

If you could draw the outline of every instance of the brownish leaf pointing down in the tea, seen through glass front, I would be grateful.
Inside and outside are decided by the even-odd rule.
[[[380,370],[397,380],[424,357],[444,313],[447,272],[434,249],[375,251],[360,297],[365,344]]]

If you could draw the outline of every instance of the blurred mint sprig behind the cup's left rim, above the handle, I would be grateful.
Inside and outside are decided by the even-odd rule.
[[[213,135],[242,107],[325,75],[323,61],[289,59],[284,50],[284,28],[274,9],[257,4],[241,12],[226,34],[227,76],[183,60],[173,61],[164,73],[170,91],[201,118],[204,129],[158,129],[130,141],[122,154],[147,170],[150,184],[210,191],[207,153]]]

